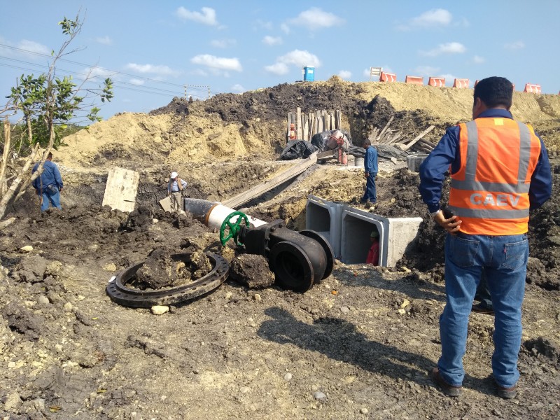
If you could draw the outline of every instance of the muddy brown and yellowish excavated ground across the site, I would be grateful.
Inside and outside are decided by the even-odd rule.
[[[531,215],[514,400],[493,393],[487,315],[470,318],[464,395],[447,398],[430,383],[427,372],[440,353],[444,233],[421,204],[418,175],[402,162],[382,165],[375,212],[424,221],[397,267],[336,261],[331,276],[307,293],[238,276],[161,315],[109,299],[109,279],[154,251],[201,249],[242,260],[242,250],[232,242],[221,246],[218,233],[189,214],[158,209],[165,177],[178,170],[191,197],[212,201],[265,181],[293,165],[274,158],[284,141],[283,116],[295,104],[330,109],[336,102],[332,108],[342,109],[356,144],[391,115],[411,137],[434,122],[441,135],[446,124],[467,119],[470,108],[463,105],[468,95],[451,89],[440,95],[410,86],[403,94],[402,84],[392,92],[380,83],[336,79],[304,85],[192,104],[177,99],[153,116],[127,114],[94,125],[55,153],[66,183],[63,210],[41,215],[29,193],[12,209],[15,223],[0,232],[2,419],[559,417],[560,102],[547,95],[535,105],[540,111],[530,99],[519,100],[519,114],[546,132],[554,183],[552,200]],[[438,98],[461,105],[443,113],[447,102],[435,104]],[[141,174],[132,214],[101,207],[113,166]],[[307,195],[359,207],[364,185],[359,168],[315,165],[244,211],[300,230]]]

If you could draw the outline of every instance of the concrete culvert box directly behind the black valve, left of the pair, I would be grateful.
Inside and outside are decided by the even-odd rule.
[[[327,239],[335,253],[340,255],[340,215],[343,204],[323,200],[314,195],[307,197],[305,228],[320,233]]]

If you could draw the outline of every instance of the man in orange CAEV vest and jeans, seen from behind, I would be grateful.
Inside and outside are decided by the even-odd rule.
[[[512,96],[510,80],[480,80],[473,120],[447,129],[420,167],[423,202],[448,232],[442,355],[431,377],[449,396],[462,392],[468,318],[483,270],[495,314],[491,363],[496,391],[501,398],[517,395],[529,209],[549,199],[552,174],[540,137],[530,125],[513,120]],[[444,216],[439,202],[448,169],[453,215]]]

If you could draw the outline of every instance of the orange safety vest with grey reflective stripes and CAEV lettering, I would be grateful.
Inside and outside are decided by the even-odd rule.
[[[449,208],[469,235],[521,235],[540,155],[533,127],[510,118],[459,124],[461,167],[451,174]],[[451,170],[449,171],[451,172]]]

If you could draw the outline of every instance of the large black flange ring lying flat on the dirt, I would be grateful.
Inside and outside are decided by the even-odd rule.
[[[171,258],[179,261],[189,261],[192,253],[179,253]],[[164,289],[146,289],[127,287],[127,283],[136,275],[144,261],[137,262],[120,271],[111,278],[107,285],[107,294],[113,302],[129,307],[152,307],[155,305],[169,305],[194,299],[218,288],[230,274],[230,264],[221,255],[205,253],[209,258],[212,270],[206,276],[193,283]]]

